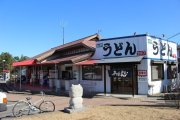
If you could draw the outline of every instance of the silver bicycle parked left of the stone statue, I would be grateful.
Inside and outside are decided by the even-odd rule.
[[[38,111],[40,113],[53,112],[55,110],[55,104],[52,101],[46,101],[44,99],[45,93],[42,91],[41,96],[41,99],[34,103],[31,102],[31,97],[26,97],[26,100],[18,101],[12,109],[14,117],[29,115],[30,111]]]

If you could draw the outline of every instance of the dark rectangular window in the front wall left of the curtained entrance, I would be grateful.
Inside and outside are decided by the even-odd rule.
[[[102,80],[102,67],[98,65],[82,66],[83,80]]]

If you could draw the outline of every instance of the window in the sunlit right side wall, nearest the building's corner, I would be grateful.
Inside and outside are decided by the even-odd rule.
[[[152,80],[162,80],[164,79],[164,64],[162,63],[152,63],[151,66],[151,76]]]

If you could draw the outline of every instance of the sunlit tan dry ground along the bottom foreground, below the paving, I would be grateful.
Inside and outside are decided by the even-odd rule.
[[[91,106],[72,114],[56,111],[14,120],[179,120],[180,110],[168,107]]]

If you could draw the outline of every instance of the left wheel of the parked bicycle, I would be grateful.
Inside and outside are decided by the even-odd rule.
[[[17,102],[12,109],[12,113],[15,117],[21,117],[22,115],[28,115],[30,113],[29,104],[25,101]]]

